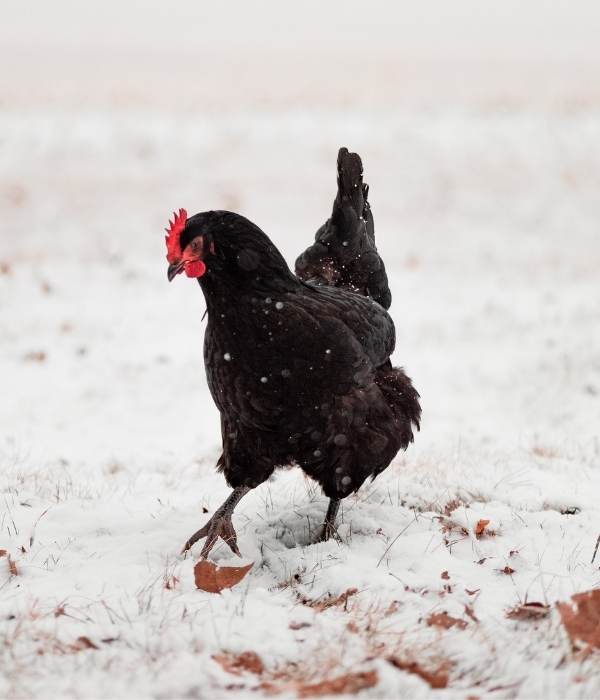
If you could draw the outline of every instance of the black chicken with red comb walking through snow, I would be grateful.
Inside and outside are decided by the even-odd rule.
[[[243,216],[187,219],[181,209],[171,223],[169,280],[197,277],[206,299],[204,363],[223,437],[218,468],[234,489],[184,551],[206,537],[206,557],[220,536],[239,554],[236,504],[290,464],[330,498],[327,539],[340,499],[412,442],[419,394],[390,362],[391,295],[367,194],[359,156],[341,149],[331,218],[296,261],[297,276]]]

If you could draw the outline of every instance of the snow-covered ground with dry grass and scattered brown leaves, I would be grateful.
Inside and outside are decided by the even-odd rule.
[[[600,101],[65,108],[2,80],[0,697],[599,697],[556,603],[600,587]],[[292,263],[341,145],[422,431],[340,542],[276,473],[234,515],[252,570],[199,591],[179,551],[228,488],[163,228],[233,209]]]

